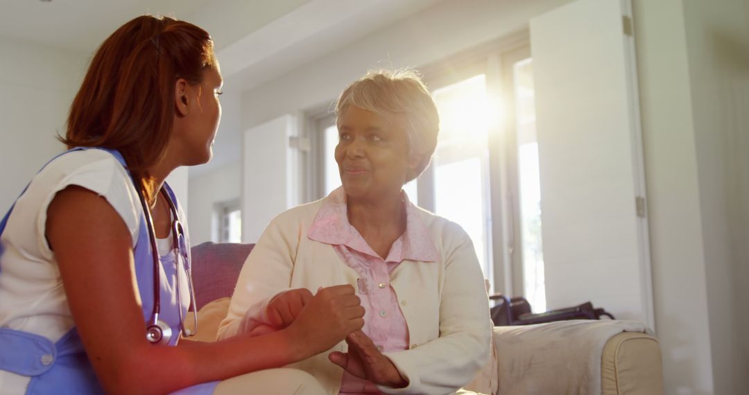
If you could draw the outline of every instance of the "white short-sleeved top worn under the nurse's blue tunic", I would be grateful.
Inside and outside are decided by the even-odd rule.
[[[104,197],[127,225],[133,245],[143,212],[127,171],[103,150],[79,150],[58,157],[16,201],[1,236],[5,251],[0,257],[0,327],[39,334],[53,343],[73,328],[73,316],[55,255],[44,236],[46,213],[55,194],[71,185]],[[171,236],[159,240],[160,254],[169,253],[171,240]],[[2,391],[22,393],[28,380],[0,370]]]

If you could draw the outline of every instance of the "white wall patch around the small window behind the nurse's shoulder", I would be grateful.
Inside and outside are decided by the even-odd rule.
[[[217,242],[213,235],[216,204],[239,198],[240,161],[199,176],[189,177],[189,237],[192,245]]]

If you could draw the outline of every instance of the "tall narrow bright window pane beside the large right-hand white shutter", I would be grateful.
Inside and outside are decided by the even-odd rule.
[[[542,312],[546,310],[546,288],[541,237],[539,144],[536,141],[536,106],[533,102],[533,64],[530,59],[526,59],[516,63],[514,68],[524,293],[533,311]]]

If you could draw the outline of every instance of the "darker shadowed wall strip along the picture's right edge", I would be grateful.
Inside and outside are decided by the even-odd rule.
[[[718,4],[684,10],[715,394],[739,394],[749,388],[749,2]]]

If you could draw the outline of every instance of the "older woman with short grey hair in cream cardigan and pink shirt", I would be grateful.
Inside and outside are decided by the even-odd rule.
[[[401,190],[431,160],[437,108],[415,73],[370,72],[336,112],[342,188],[270,222],[219,338],[285,328],[318,289],[350,284],[363,329],[296,367],[332,394],[455,392],[488,361],[482,272],[464,230]]]

